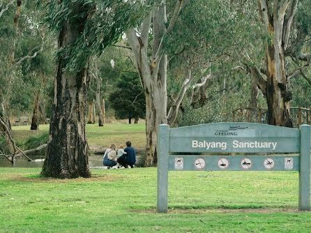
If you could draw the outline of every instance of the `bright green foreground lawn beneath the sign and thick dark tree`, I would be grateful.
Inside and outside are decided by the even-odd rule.
[[[311,213],[297,211],[298,172],[169,172],[167,214],[155,213],[155,167],[91,172],[59,180],[1,168],[0,232],[311,230]]]

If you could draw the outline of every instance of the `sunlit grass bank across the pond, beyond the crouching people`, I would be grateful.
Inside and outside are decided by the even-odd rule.
[[[13,137],[17,142],[24,142],[30,136],[40,135],[49,130],[50,125],[40,125],[39,130],[30,130],[31,126],[13,126]],[[131,141],[132,146],[142,149],[146,146],[145,123],[106,123],[99,127],[98,124],[86,124],[86,139],[89,144],[110,146],[112,143],[125,144]]]

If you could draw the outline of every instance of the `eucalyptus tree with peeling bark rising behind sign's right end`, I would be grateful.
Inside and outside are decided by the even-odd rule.
[[[265,35],[263,47],[266,67],[258,68],[255,63],[249,66],[257,80],[257,85],[266,98],[268,105],[268,123],[277,126],[292,127],[289,112],[289,100],[292,93],[289,89],[289,79],[292,73],[288,71],[286,57],[307,61],[305,66],[298,67],[299,73],[308,66],[310,56],[301,49],[310,29],[310,15],[299,15],[299,10],[310,8],[310,1],[274,0],[258,1],[259,19],[263,24]],[[298,12],[297,12],[298,10]],[[303,20],[301,20],[301,16]],[[301,22],[299,22],[299,20]],[[309,22],[307,22],[309,21]],[[250,57],[246,56],[250,60]]]

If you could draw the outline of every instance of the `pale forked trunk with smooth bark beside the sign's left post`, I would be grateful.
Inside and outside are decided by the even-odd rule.
[[[183,6],[181,4],[183,3]],[[130,29],[126,35],[134,54],[139,77],[144,88],[146,98],[146,159],[145,167],[157,165],[157,131],[158,125],[167,123],[167,54],[163,50],[162,40],[174,28],[174,24],[181,13],[181,8],[188,1],[176,1],[174,14],[167,25],[166,6],[163,1],[155,6],[142,22],[140,36],[135,29]],[[148,38],[152,17],[152,59],[149,64]]]

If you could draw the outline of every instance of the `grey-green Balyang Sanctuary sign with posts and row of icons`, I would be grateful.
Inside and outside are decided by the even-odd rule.
[[[298,171],[299,210],[310,210],[310,126],[259,123],[158,126],[157,211],[167,213],[168,171]],[[174,155],[169,155],[173,152]],[[178,155],[178,153],[191,155]],[[197,153],[197,154],[196,154]],[[218,155],[202,155],[218,153]],[[221,153],[221,155],[219,155]],[[299,153],[298,156],[229,156],[229,153]]]

